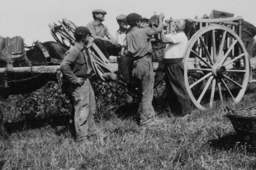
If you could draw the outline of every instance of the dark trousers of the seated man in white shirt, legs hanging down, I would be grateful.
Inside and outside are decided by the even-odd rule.
[[[118,70],[121,70],[126,83],[132,82],[132,60],[128,56],[118,56]]]

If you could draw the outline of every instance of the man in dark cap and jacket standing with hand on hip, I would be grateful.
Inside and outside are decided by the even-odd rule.
[[[92,144],[91,141],[88,141],[89,135],[99,135],[100,137],[104,137],[104,135],[96,131],[94,123],[96,102],[88,79],[92,67],[89,64],[84,45],[89,43],[90,30],[87,27],[76,27],[74,36],[76,43],[65,53],[65,58],[60,64],[60,71],[63,74],[62,90],[72,103],[77,141]]]

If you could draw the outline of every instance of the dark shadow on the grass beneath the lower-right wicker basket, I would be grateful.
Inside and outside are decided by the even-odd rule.
[[[250,138],[251,135],[246,134],[228,134],[225,136],[219,136],[218,139],[209,140],[208,143],[211,147],[217,150],[230,151],[231,149],[245,148],[247,151],[255,152],[256,147],[255,144],[251,145]]]

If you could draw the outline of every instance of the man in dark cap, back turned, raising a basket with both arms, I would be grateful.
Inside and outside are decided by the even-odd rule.
[[[160,121],[156,119],[152,106],[154,96],[154,73],[150,55],[152,35],[161,33],[163,30],[164,14],[159,15],[158,27],[146,27],[140,29],[141,15],[131,13],[126,17],[131,29],[126,33],[126,47],[129,57],[133,60],[132,81],[140,84],[141,91],[141,115],[140,125],[154,125]]]

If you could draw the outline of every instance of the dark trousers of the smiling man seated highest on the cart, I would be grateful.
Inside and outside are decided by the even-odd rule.
[[[122,46],[119,44],[117,47],[108,42],[103,42],[100,38],[96,38],[93,41],[101,50],[106,58],[109,56],[117,56],[122,50]]]

